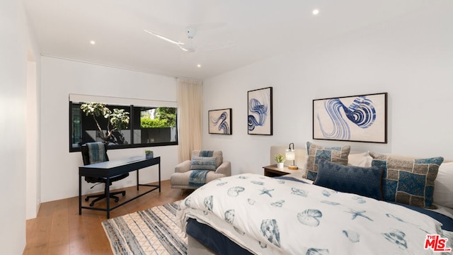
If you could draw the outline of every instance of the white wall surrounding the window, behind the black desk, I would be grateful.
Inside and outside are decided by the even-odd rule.
[[[176,79],[96,64],[42,57],[41,193],[42,202],[79,196],[80,152],[69,153],[69,94],[113,96],[176,102]],[[144,155],[145,148],[111,149],[110,160]],[[161,157],[161,179],[170,179],[178,164],[177,146],[152,147]],[[133,186],[135,172],[111,188]],[[140,182],[157,181],[157,166],[140,171]],[[82,182],[82,193],[103,191]]]

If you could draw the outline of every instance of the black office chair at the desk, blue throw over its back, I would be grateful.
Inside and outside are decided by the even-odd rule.
[[[87,142],[85,145],[81,146],[81,152],[82,152],[82,159],[84,159],[84,165],[108,161],[107,147],[102,142]],[[90,155],[91,155],[91,157],[90,157]],[[129,176],[129,174],[120,174],[117,176],[110,177],[110,185],[112,185],[112,183],[114,181],[120,181],[122,179],[125,179],[127,176]],[[107,179],[103,178],[103,177],[85,176],[85,181],[87,181],[88,183],[96,183],[95,185],[91,186],[91,188],[98,185],[99,183],[105,183],[106,180]],[[105,185],[105,190],[104,190],[103,194],[86,196],[85,201],[90,200],[90,198],[96,198],[95,200],[91,201],[91,203],[90,203],[90,206],[93,206],[94,203],[105,198],[105,193],[107,193],[108,188],[109,187],[107,185]],[[126,191],[110,192],[110,198],[114,198],[115,202],[118,202],[118,200],[120,200],[120,198],[115,196],[118,194],[122,194],[122,196],[126,196]]]

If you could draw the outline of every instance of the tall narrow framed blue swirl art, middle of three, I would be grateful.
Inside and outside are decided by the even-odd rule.
[[[272,87],[248,91],[248,135],[272,135]]]

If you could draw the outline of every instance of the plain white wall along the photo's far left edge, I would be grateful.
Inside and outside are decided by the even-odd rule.
[[[21,1],[0,1],[2,254],[22,254],[25,247],[27,25]]]

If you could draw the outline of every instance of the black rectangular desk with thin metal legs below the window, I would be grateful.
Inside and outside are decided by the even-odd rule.
[[[149,185],[149,184],[139,184],[139,169],[143,169],[148,166],[159,165],[159,185]],[[110,178],[113,176],[117,176],[120,174],[127,174],[131,171],[137,171],[137,191],[139,190],[139,186],[149,186],[154,187],[151,190],[140,194],[130,200],[127,200],[119,205],[115,205],[110,208]],[[82,206],[82,176],[90,176],[90,177],[101,177],[106,178],[105,185],[109,188],[106,189],[105,192],[105,199],[107,200],[106,208],[94,208],[88,206]],[[108,162],[101,162],[96,164],[88,164],[86,166],[79,166],[79,215],[82,214],[82,209],[89,209],[89,210],[103,210],[107,212],[107,218],[110,218],[110,210],[120,207],[125,203],[129,203],[130,201],[139,198],[141,196],[150,193],[151,191],[156,190],[159,188],[159,193],[161,192],[161,157],[154,157],[152,159],[145,159],[144,156],[138,157],[130,157],[127,159],[119,159],[119,160],[112,160]]]

